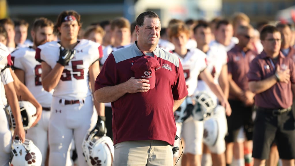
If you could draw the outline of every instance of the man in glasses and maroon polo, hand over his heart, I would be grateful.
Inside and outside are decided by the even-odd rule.
[[[249,89],[256,94],[254,166],[265,165],[274,141],[283,165],[294,166],[295,126],[291,105],[295,64],[280,52],[281,33],[276,27],[264,27],[260,40],[264,50],[251,62],[247,74]]]

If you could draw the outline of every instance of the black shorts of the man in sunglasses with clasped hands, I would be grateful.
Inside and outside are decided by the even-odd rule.
[[[253,137],[253,107],[245,106],[243,102],[238,100],[228,100],[232,108],[232,114],[227,116],[227,135],[226,142],[236,142],[240,128],[243,127],[247,140]]]

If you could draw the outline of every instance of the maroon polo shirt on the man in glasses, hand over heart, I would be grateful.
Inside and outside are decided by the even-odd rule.
[[[273,62],[274,63],[274,62]],[[247,77],[250,81],[261,81],[271,77],[276,72],[276,67],[280,65],[280,69],[290,69],[290,82],[277,82],[271,88],[255,95],[255,105],[262,108],[280,109],[288,108],[292,105],[292,89],[291,84],[295,83],[295,64],[292,59],[287,58],[280,52],[278,61],[271,63],[271,59],[262,51],[250,64],[250,70]]]

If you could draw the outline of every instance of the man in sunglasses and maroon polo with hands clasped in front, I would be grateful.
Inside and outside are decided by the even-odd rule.
[[[250,49],[253,35],[254,29],[251,25],[240,25],[236,30],[236,37],[239,39],[239,43],[227,52],[228,79],[230,82],[228,101],[232,108],[232,115],[227,116],[228,135],[225,137],[225,140],[227,142],[227,150],[229,152],[233,151],[234,165],[245,165],[244,143],[238,139],[241,127],[244,129],[248,144],[251,144],[245,147],[245,149],[248,149],[250,153],[252,152],[252,107],[255,94],[249,90],[246,74],[249,71],[251,61],[257,56],[255,51]],[[234,143],[237,144],[237,148],[232,149]]]

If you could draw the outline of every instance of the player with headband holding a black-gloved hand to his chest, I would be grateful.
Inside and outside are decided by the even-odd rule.
[[[36,60],[41,62],[42,86],[50,92],[54,89],[48,127],[49,165],[65,165],[72,138],[76,144],[78,164],[87,165],[83,158],[83,137],[91,129],[93,104],[97,110],[98,136],[105,130],[104,105],[91,96],[89,81],[94,92],[94,82],[99,74],[102,48],[90,40],[78,40],[80,15],[76,11],[59,14],[54,30],[59,42],[48,42],[36,49]]]

